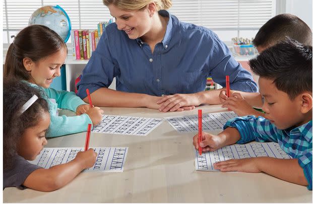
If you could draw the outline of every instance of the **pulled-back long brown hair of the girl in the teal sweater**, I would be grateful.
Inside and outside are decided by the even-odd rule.
[[[29,80],[23,59],[30,58],[36,62],[60,49],[67,49],[65,42],[53,30],[42,25],[31,25],[21,30],[9,46],[4,77],[18,80]]]

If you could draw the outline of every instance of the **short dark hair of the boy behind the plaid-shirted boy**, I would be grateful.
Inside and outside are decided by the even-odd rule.
[[[260,28],[253,44],[256,47],[269,47],[286,37],[312,46],[312,31],[306,23],[291,14],[280,14],[271,18]]]

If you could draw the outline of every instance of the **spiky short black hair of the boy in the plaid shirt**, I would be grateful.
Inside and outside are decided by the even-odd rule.
[[[248,63],[256,75],[273,79],[277,89],[291,100],[305,91],[312,92],[312,46],[286,38]]]

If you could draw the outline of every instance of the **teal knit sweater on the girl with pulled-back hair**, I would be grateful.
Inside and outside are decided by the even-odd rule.
[[[40,89],[42,91],[41,97],[48,102],[50,126],[46,133],[47,138],[87,131],[88,124],[92,124],[89,115],[86,113],[72,117],[56,115],[57,108],[69,109],[76,112],[78,106],[86,104],[80,97],[76,96],[74,92],[57,91],[52,88],[44,89],[35,84],[29,82],[26,83],[32,87]],[[49,99],[55,99],[56,103],[53,103]]]

